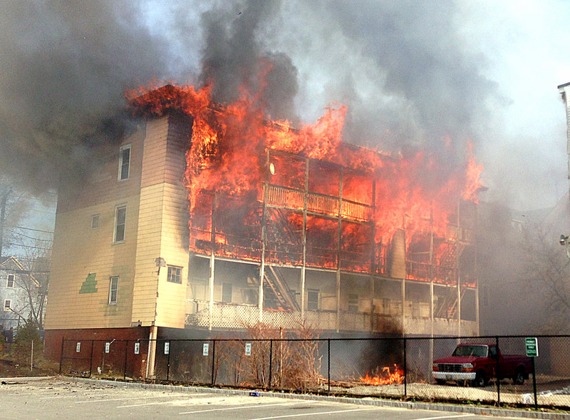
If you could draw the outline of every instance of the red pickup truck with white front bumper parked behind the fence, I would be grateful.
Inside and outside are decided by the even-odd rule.
[[[495,344],[459,344],[451,357],[433,361],[432,377],[437,384],[447,381],[470,381],[473,386],[485,386],[491,378],[511,378],[513,384],[524,384],[531,372],[527,356],[501,354]]]

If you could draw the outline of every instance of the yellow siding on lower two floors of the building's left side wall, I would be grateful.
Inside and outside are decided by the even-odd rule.
[[[127,205],[125,242],[113,245],[115,205]],[[100,215],[99,227],[91,217]],[[130,326],[133,266],[136,250],[138,196],[66,213],[59,212],[53,243],[46,328]],[[89,273],[95,273],[97,292],[80,294]],[[109,277],[119,276],[118,302],[108,305]]]

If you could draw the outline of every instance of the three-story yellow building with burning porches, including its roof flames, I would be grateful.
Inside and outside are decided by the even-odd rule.
[[[46,346],[257,322],[328,334],[478,333],[480,168],[269,121],[209,88],[129,94],[140,124],[60,192]],[[190,334],[190,333],[189,333]]]

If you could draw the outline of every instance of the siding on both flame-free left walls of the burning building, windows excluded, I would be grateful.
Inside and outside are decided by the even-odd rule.
[[[172,118],[182,126],[169,126]],[[190,129],[180,117],[148,121],[109,152],[88,183],[62,190],[46,329],[130,327],[139,321],[184,327],[189,216],[182,179]],[[118,150],[128,144],[129,178],[118,180]],[[113,244],[115,206],[122,204],[125,241]],[[91,227],[93,215],[99,215],[97,228]],[[167,267],[157,279],[157,257],[183,267],[182,284],[167,282]],[[89,273],[95,273],[97,291],[80,294]],[[108,304],[111,276],[119,276],[116,305]]]

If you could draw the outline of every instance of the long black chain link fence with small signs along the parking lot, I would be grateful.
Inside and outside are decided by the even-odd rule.
[[[570,336],[534,337],[537,357],[527,338],[63,339],[60,373],[570,409]]]

